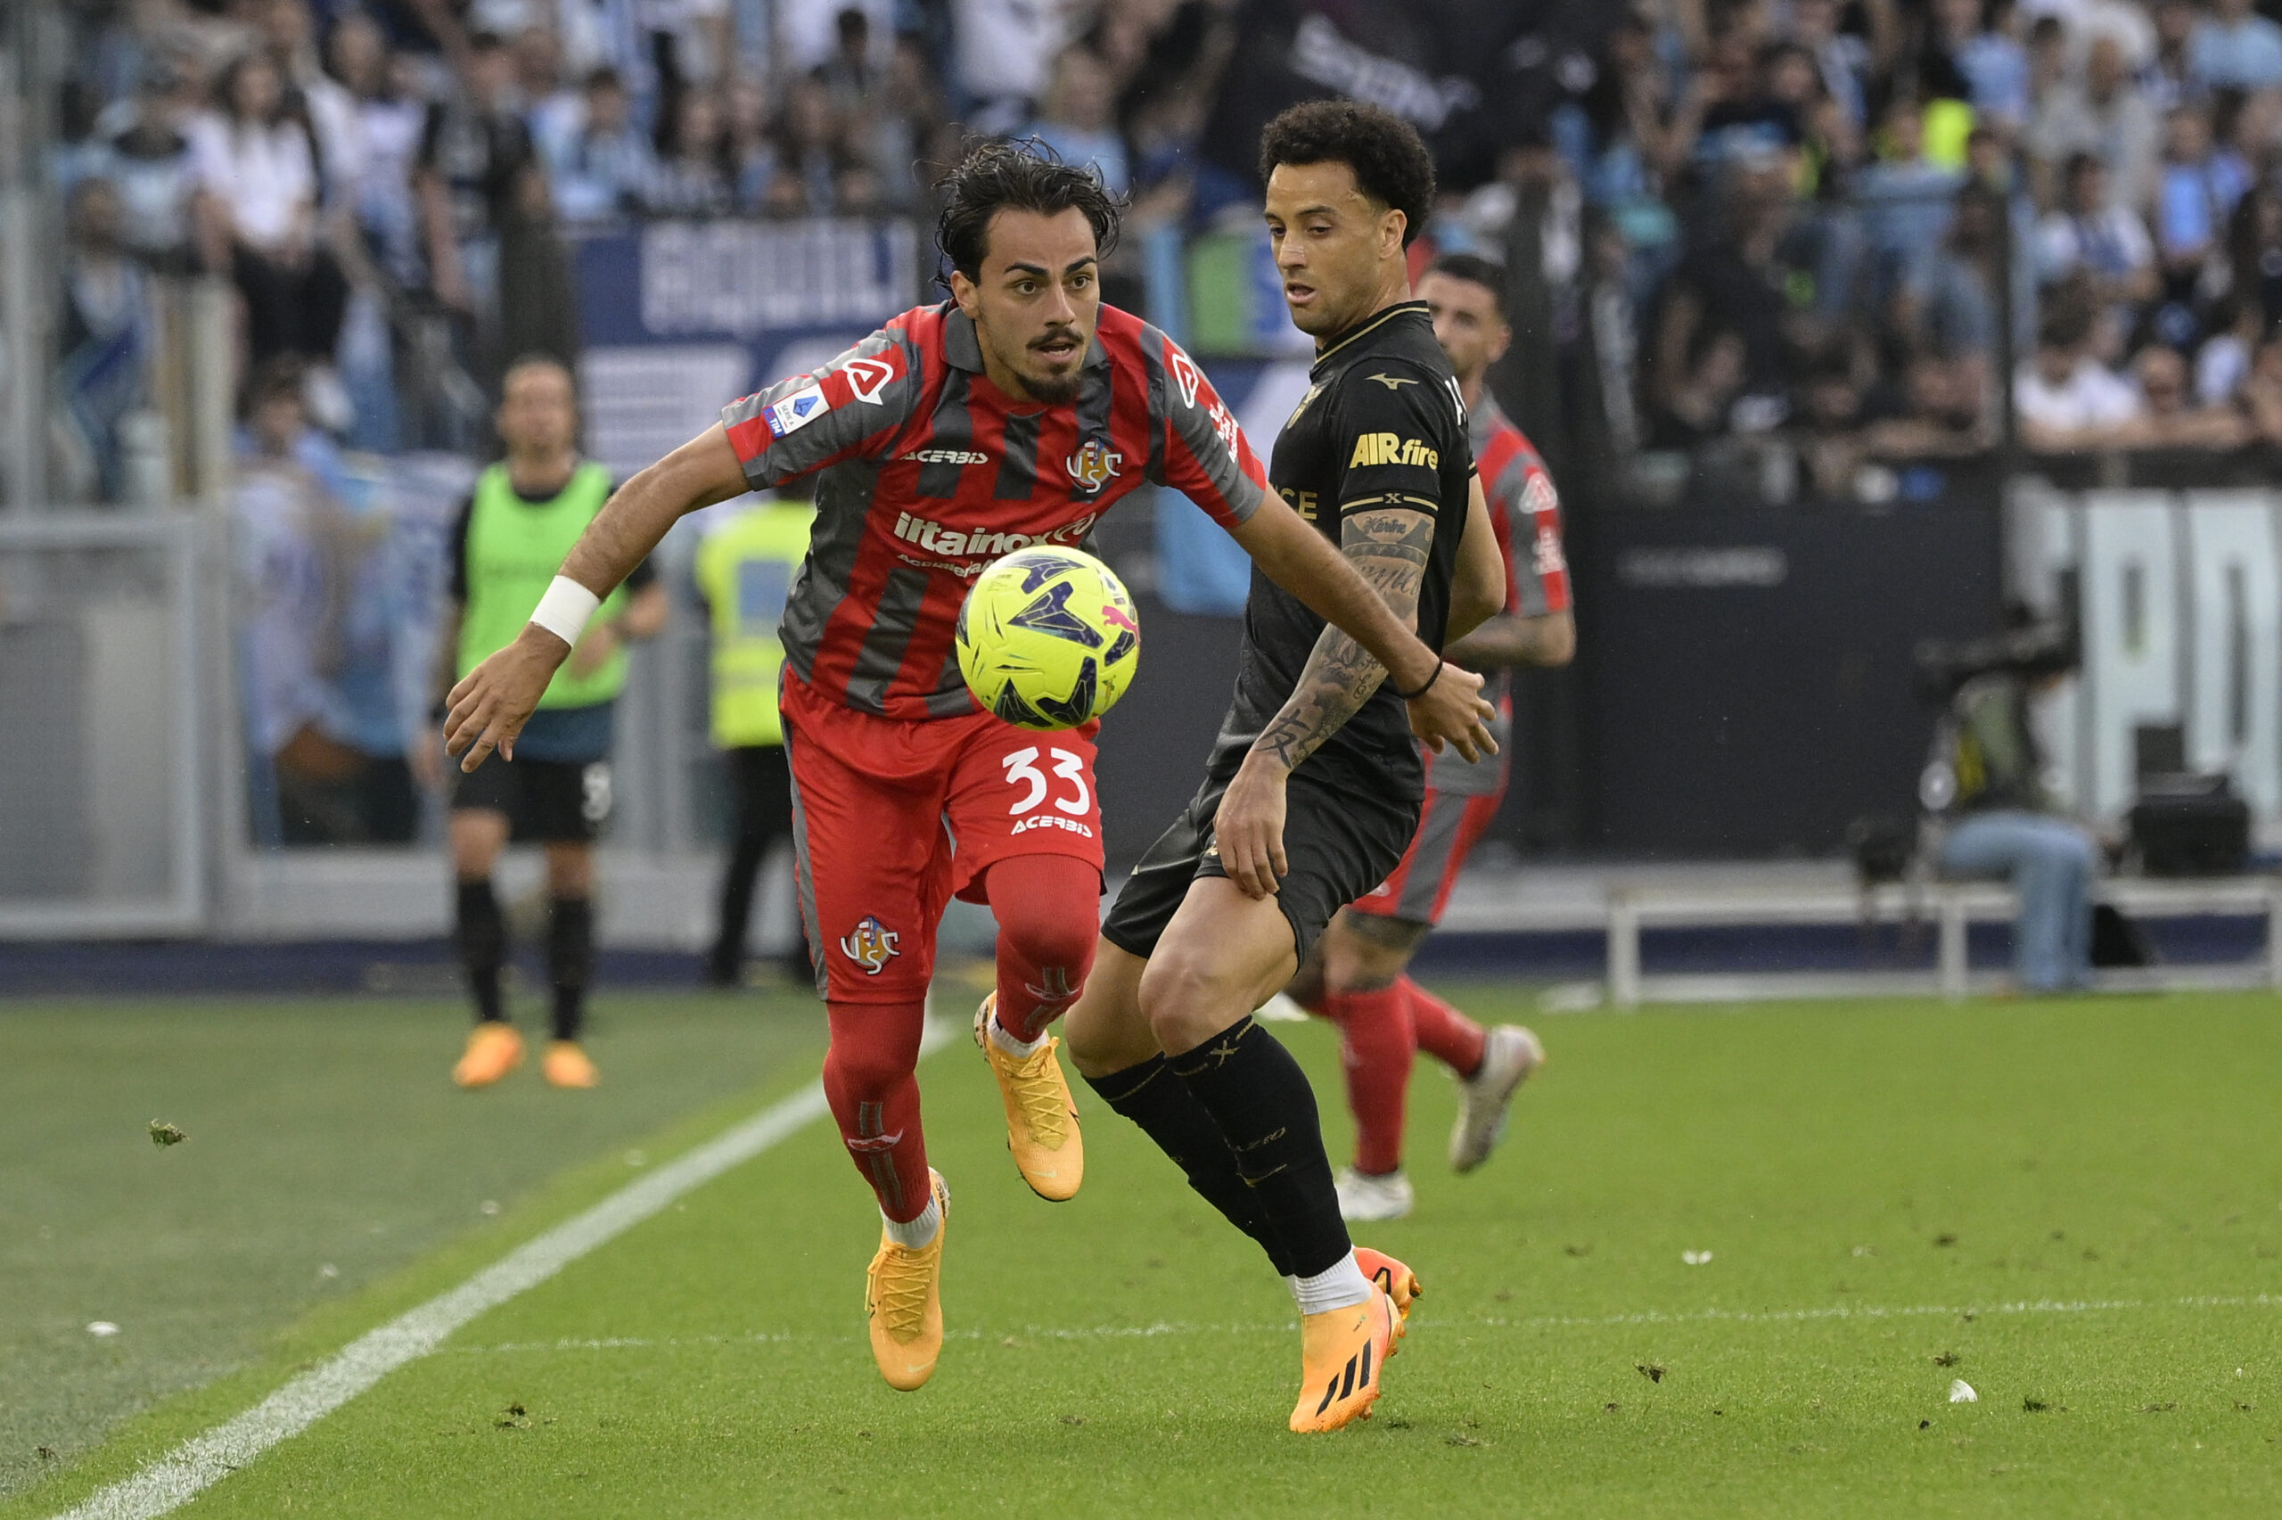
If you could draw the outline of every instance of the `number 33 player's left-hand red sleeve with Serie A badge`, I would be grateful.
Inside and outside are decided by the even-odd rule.
[[[780,379],[721,409],[744,479],[764,491],[888,447],[926,386],[920,347],[883,326],[812,374]]]

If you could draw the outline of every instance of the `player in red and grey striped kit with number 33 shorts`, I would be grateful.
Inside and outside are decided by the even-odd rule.
[[[1093,723],[1029,733],[977,708],[952,632],[995,557],[1084,541],[1143,482],[1203,504],[1260,571],[1394,671],[1429,744],[1490,751],[1481,678],[1445,666],[1324,534],[1264,491],[1235,418],[1164,333],[1100,304],[1118,205],[1084,171],[995,144],[942,185],[952,299],[895,317],[812,374],[728,406],[630,479],[507,650],[452,692],[445,744],[472,769],[568,653],[564,630],[678,516],[817,475],[785,607],[785,744],[808,940],[831,1009],[824,1091],[883,1239],[865,1278],[872,1353],[920,1388],[942,1347],[949,1194],[926,1166],[915,1066],[936,924],[952,895],[1000,922],[977,1038],[1025,1180],[1068,1198],[1077,1111],[1047,1025],[1077,997],[1102,890]],[[557,600],[559,598],[559,600]]]

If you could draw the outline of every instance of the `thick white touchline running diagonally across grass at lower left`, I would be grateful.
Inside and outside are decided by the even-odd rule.
[[[929,1054],[947,1038],[947,1027],[931,1020],[920,1041],[920,1054]],[[157,1515],[187,1504],[201,1490],[249,1465],[269,1447],[317,1424],[397,1367],[420,1360],[477,1315],[539,1287],[589,1251],[625,1235],[733,1166],[751,1162],[794,1130],[822,1118],[824,1111],[824,1086],[810,1082],[696,1150],[628,1182],[584,1214],[516,1246],[452,1292],[358,1335],[331,1360],[304,1372],[246,1413],[185,1440],[164,1458],[103,1488],[59,1520],[157,1520]]]

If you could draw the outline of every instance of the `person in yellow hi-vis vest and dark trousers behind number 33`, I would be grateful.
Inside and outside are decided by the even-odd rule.
[[[712,739],[728,760],[737,801],[737,835],[721,876],[721,931],[705,963],[714,986],[742,979],[753,881],[776,842],[792,840],[792,767],[776,712],[776,680],[785,669],[778,623],[808,559],[815,520],[810,502],[764,500],[698,545],[698,596],[712,612]],[[801,984],[815,979],[806,947],[794,947],[785,970]]]

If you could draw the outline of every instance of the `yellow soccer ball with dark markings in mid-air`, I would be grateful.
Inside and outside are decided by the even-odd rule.
[[[1107,564],[1050,543],[997,559],[958,607],[958,673],[1015,728],[1109,712],[1141,664],[1141,621]]]

